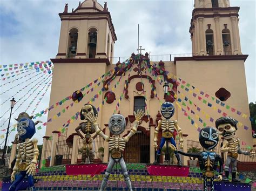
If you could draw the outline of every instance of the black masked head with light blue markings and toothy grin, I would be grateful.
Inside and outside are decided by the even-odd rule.
[[[199,133],[199,142],[205,149],[210,150],[217,146],[219,134],[215,128],[205,127]]]

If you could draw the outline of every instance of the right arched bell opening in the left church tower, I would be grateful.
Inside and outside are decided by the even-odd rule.
[[[95,58],[97,47],[97,29],[91,28],[88,32],[87,54],[89,58]]]

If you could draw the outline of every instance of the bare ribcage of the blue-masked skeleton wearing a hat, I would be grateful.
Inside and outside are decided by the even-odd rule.
[[[30,162],[30,160],[33,159],[34,146],[31,140],[28,142],[22,142],[19,149],[21,151],[22,161]]]

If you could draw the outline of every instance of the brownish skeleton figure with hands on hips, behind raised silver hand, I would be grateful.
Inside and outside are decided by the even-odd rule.
[[[94,116],[98,114],[95,106],[91,104],[85,104],[80,111],[80,119],[84,120],[85,116],[89,113]],[[82,131],[85,136],[83,136],[80,131]],[[94,137],[91,136],[91,134],[95,133],[95,129],[92,127],[92,123],[88,120],[86,120],[85,122],[81,122],[76,128],[76,132],[80,136],[80,138],[83,139],[83,152],[81,163],[93,162],[92,141],[97,137],[98,134],[96,134]],[[87,154],[87,151],[89,151],[89,155]]]

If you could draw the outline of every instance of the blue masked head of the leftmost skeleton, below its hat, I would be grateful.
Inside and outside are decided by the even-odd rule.
[[[36,133],[35,123],[29,118],[22,118],[17,123],[17,131],[22,140],[31,139]]]

